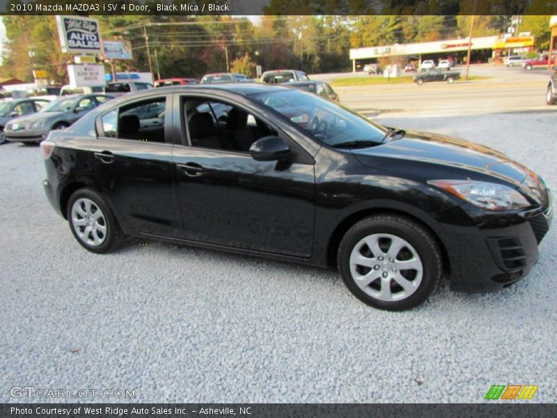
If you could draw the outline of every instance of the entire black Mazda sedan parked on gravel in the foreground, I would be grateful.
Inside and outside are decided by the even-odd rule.
[[[336,266],[402,310],[524,277],[551,224],[542,178],[505,155],[377,125],[304,91],[134,93],[42,143],[52,206],[89,251],[124,234]]]

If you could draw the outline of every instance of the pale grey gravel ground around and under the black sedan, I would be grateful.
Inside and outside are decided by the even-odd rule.
[[[379,121],[493,146],[557,190],[557,113]],[[136,389],[125,401],[141,402],[480,402],[494,384],[556,401],[555,227],[519,284],[466,295],[442,283],[388,313],[328,270],[159,242],[88,253],[47,203],[38,148],[1,146],[0,173],[1,402],[29,401],[13,386]]]

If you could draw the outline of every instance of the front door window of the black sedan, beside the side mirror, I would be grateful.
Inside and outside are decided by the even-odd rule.
[[[182,98],[182,117],[191,146],[249,153],[253,142],[276,134],[265,122],[232,104]]]

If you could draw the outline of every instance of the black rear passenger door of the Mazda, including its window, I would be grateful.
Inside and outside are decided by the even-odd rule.
[[[126,226],[180,238],[168,97],[127,102],[100,115],[90,162],[102,192]]]

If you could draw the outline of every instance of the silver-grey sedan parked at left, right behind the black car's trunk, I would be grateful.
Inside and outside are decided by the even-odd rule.
[[[50,102],[36,114],[20,116],[6,124],[8,142],[40,142],[50,130],[65,129],[95,107],[111,100],[104,94],[71,95]]]

